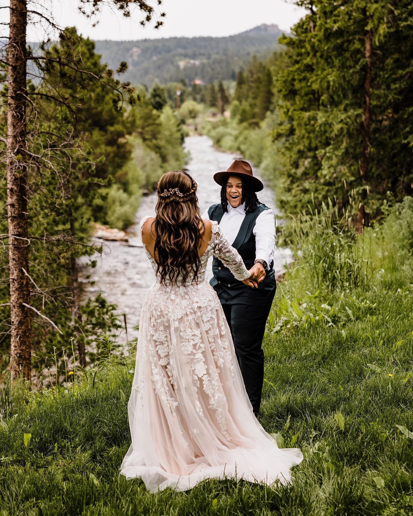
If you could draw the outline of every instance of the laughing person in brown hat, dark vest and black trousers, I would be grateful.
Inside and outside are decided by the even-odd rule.
[[[235,159],[228,170],[214,174],[214,180],[221,186],[221,201],[210,206],[202,218],[218,222],[259,283],[258,288],[248,289],[214,257],[210,283],[224,309],[245,388],[259,416],[264,381],[261,345],[277,288],[273,270],[275,215],[258,200],[256,192],[264,186],[245,160]]]

